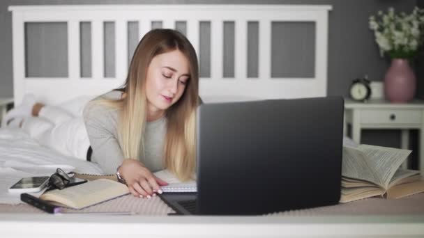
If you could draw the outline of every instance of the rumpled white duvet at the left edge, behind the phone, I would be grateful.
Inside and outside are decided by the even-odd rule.
[[[52,175],[56,168],[103,173],[94,163],[40,145],[22,129],[0,128],[0,203],[21,203],[19,194],[8,193],[8,188],[22,177]]]

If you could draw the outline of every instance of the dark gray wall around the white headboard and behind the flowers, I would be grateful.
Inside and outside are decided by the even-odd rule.
[[[0,1],[0,97],[13,96],[12,31],[10,5],[40,4],[124,4],[124,3],[273,3],[273,4],[330,4],[333,10],[329,15],[328,38],[328,95],[348,95],[351,80],[368,74],[371,80],[381,81],[389,61],[379,56],[374,36],[368,29],[368,17],[378,10],[393,6],[396,10],[410,12],[422,0],[3,0]],[[418,76],[418,97],[424,97],[424,54],[416,61]],[[400,132],[394,130],[363,132],[363,143],[375,145],[399,146]],[[416,132],[411,134],[412,149],[416,150]],[[416,155],[413,154],[413,157]]]

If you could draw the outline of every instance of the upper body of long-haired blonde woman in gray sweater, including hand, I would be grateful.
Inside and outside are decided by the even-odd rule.
[[[180,180],[195,171],[197,56],[178,31],[155,29],[135,49],[122,88],[90,102],[84,121],[94,161],[117,173],[134,196],[151,198],[167,168]]]

